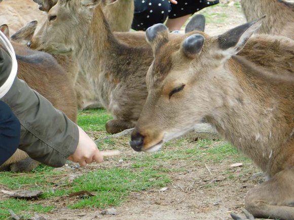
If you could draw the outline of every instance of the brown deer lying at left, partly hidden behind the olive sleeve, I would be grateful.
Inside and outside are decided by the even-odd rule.
[[[7,25],[0,30],[8,34]],[[9,36],[8,36],[9,37]],[[77,121],[77,104],[70,80],[55,59],[44,52],[29,50],[25,46],[12,42],[17,54],[18,77],[23,79],[31,89],[46,97],[52,105],[64,112],[73,122]],[[21,150],[17,150],[2,166],[0,170],[28,172],[39,162],[31,159]]]

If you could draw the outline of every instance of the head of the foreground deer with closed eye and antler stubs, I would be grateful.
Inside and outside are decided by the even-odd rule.
[[[154,61],[146,75],[149,95],[131,135],[135,151],[155,152],[164,142],[222,113],[234,86],[226,61],[242,50],[261,20],[214,37],[193,31],[168,39],[163,24],[146,30]]]

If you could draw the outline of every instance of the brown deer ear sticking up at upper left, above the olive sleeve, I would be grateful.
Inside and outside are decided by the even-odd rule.
[[[20,42],[22,40],[31,40],[37,25],[38,21],[29,22],[27,25],[12,34],[11,40],[16,42]]]

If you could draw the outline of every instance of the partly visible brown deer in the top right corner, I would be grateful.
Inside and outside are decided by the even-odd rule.
[[[282,35],[294,39],[294,4],[283,0],[241,0],[247,21],[266,18],[256,33]]]

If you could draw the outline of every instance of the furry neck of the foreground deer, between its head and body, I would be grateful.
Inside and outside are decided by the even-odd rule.
[[[255,79],[248,79],[246,73],[239,71],[236,61],[230,60],[229,65],[222,70],[227,72],[229,80],[220,85],[220,104],[206,120],[215,126],[220,135],[269,173],[273,152],[276,154],[286,141],[286,135],[282,133],[290,133],[292,128],[285,131],[279,101],[273,90],[263,90]]]

